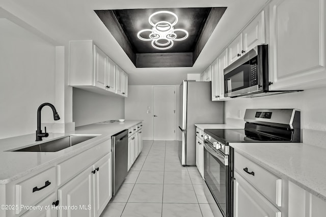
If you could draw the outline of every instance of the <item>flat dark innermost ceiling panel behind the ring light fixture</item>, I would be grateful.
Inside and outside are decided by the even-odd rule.
[[[128,9],[114,10],[114,14],[133,45],[135,53],[193,52],[210,10],[211,8]],[[152,28],[148,18],[151,14],[158,11],[175,13],[178,16],[178,22],[174,25],[174,29],[184,29],[189,36],[185,40],[174,41],[174,45],[166,50],[155,49],[151,45],[151,41],[139,39],[137,33],[143,29]],[[173,23],[174,17],[169,14],[153,16],[153,23],[161,20]],[[181,35],[182,33],[179,34]]]

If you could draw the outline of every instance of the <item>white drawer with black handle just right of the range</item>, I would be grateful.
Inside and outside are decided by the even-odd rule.
[[[267,199],[279,207],[282,206],[281,178],[269,173],[237,152],[234,152],[234,170],[249,181]]]

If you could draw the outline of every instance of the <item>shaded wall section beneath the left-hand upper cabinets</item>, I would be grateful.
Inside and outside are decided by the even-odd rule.
[[[124,98],[73,88],[72,119],[76,127],[101,121],[124,119]]]

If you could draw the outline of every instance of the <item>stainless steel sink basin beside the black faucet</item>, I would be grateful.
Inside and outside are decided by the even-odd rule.
[[[84,141],[90,140],[97,135],[68,135],[57,140],[52,140],[49,142],[33,145],[26,148],[21,148],[12,151],[26,151],[26,152],[56,152],[62,149],[77,145]]]

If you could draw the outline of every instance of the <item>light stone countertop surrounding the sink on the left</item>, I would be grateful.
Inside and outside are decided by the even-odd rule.
[[[67,133],[49,133],[49,137],[43,141],[35,142],[35,133],[21,135],[0,140],[0,184],[6,184],[17,180],[30,173],[42,170],[50,165],[56,165],[78,153],[90,149],[108,139],[124,129],[128,129],[142,120],[126,120],[125,122],[114,122],[107,124],[90,124],[76,127],[75,131]],[[57,152],[10,152],[36,144],[41,144],[50,140],[59,139],[70,134],[98,134],[97,137],[74,145],[72,147]]]

